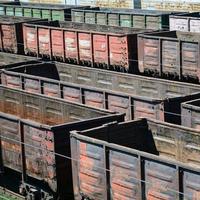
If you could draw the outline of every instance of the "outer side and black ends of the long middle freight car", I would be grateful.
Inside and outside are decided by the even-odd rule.
[[[178,124],[180,123],[180,117],[174,117],[167,112],[180,114],[180,111],[174,109],[173,106],[179,107],[181,102],[199,97],[199,95],[191,94],[171,98],[146,97],[141,94],[141,96],[128,95],[91,86],[41,78],[38,75],[35,76],[37,69],[42,73],[44,71],[43,69],[46,68],[45,66],[49,66],[50,75],[50,71],[53,70],[51,70],[52,66],[49,63],[41,65],[35,64],[32,66],[24,65],[23,67],[13,68],[10,71],[3,70],[1,74],[2,84],[9,88],[23,89],[31,93],[39,93],[72,102],[79,102],[94,108],[104,108],[114,112],[125,113],[126,120],[137,119],[139,117],[151,117],[153,119]],[[15,72],[11,72],[12,70]],[[18,73],[17,71],[24,73]],[[31,82],[27,82],[27,80],[31,80]]]

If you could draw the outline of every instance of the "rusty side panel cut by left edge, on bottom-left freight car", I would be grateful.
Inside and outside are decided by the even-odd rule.
[[[16,171],[22,171],[21,163],[21,136],[19,135],[18,121],[0,117],[1,126],[1,156],[3,165]],[[11,138],[12,140],[10,140]]]

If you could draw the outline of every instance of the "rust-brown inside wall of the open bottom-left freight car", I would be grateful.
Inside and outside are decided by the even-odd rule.
[[[12,90],[1,86],[1,111],[46,124],[60,124],[112,113],[62,99]]]

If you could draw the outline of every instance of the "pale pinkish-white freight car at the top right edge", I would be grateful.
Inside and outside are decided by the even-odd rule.
[[[200,32],[200,13],[169,16],[170,31]]]

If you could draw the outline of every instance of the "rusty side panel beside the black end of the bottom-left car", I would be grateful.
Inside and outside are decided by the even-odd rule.
[[[56,191],[53,132],[24,125],[24,142],[27,175],[47,181]]]

